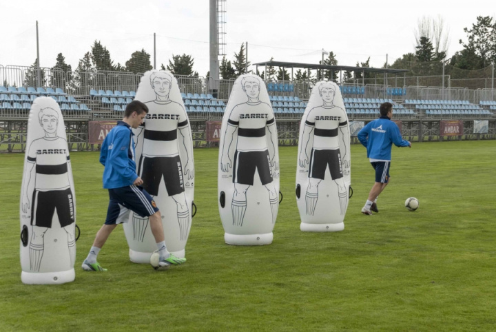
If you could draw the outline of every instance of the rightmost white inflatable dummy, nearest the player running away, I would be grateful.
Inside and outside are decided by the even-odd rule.
[[[300,124],[296,200],[302,231],[342,231],[351,184],[350,135],[338,85],[313,87]]]

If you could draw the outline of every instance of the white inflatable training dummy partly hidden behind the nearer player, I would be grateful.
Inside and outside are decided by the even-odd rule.
[[[185,257],[192,223],[194,161],[192,132],[177,80],[165,70],[145,72],[136,91],[145,103],[145,122],[133,129],[136,170],[162,214],[167,250]],[[149,263],[156,250],[148,218],[130,214],[124,224],[130,260]]]

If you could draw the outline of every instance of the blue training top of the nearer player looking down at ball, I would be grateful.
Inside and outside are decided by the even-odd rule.
[[[100,163],[103,171],[105,189],[127,187],[138,178],[134,161],[133,132],[130,125],[118,121],[105,137],[101,146]]]

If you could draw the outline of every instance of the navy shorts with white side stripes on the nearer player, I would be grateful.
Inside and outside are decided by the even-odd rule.
[[[128,187],[109,190],[109,207],[105,225],[122,224],[129,220],[130,211],[142,217],[149,217],[158,211],[152,196],[143,187]]]

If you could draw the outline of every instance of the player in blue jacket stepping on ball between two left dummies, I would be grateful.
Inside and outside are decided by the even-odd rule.
[[[130,211],[149,218],[150,229],[155,238],[160,260],[159,267],[182,264],[186,258],[177,258],[167,251],[161,213],[152,196],[141,185],[143,180],[136,174],[132,128],[137,128],[148,112],[141,101],[127,104],[124,118],[118,121],[101,146],[100,163],[103,171],[103,187],[109,191],[109,206],[105,224],[96,233],[90,253],[81,265],[86,271],[107,271],[96,261],[101,248],[118,224],[127,222]]]

